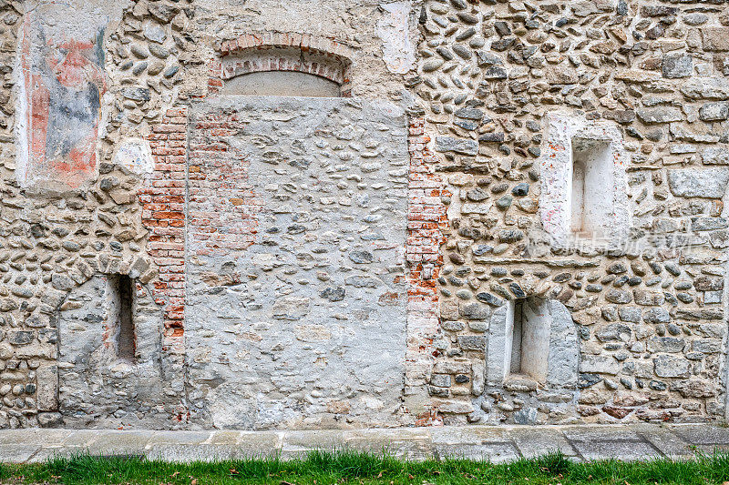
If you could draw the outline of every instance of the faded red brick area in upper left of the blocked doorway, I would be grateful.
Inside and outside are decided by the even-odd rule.
[[[244,127],[237,113],[214,112],[194,121],[188,206],[191,254],[227,255],[255,242],[262,201],[248,179],[248,160],[228,143]]]

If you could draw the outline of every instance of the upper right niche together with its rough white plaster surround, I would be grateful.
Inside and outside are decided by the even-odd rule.
[[[630,156],[620,128],[584,116],[547,116],[539,158],[539,214],[555,248],[576,239],[619,248],[630,235],[626,167]],[[582,247],[578,245],[577,248]]]

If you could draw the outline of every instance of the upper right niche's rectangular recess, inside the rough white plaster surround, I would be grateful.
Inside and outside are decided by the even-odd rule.
[[[602,238],[615,224],[614,165],[611,142],[572,138],[571,230]]]

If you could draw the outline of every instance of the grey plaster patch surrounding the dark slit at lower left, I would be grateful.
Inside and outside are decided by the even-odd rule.
[[[154,428],[168,419],[165,407],[173,406],[163,389],[182,376],[169,379],[164,372],[168,365],[160,351],[162,310],[149,288],[141,285],[132,310],[137,358],[118,357],[111,281],[108,275],[89,279],[69,293],[60,311],[59,410],[70,427]],[[99,419],[100,407],[108,418]]]

